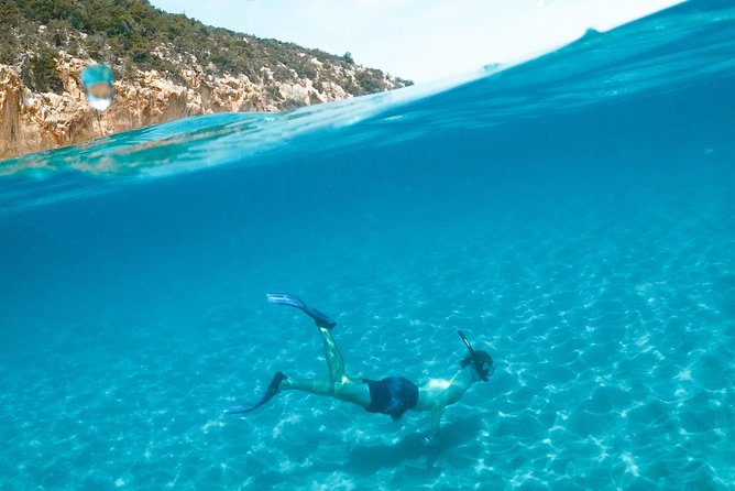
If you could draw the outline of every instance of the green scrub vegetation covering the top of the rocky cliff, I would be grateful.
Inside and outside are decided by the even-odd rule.
[[[349,53],[210,28],[146,0],[0,0],[0,64],[19,66],[26,87],[63,90],[54,69],[62,52],[105,62],[118,78],[155,69],[184,85],[187,74],[243,74],[253,83],[308,78],[316,88],[336,84],[356,96],[410,84],[356,66]]]

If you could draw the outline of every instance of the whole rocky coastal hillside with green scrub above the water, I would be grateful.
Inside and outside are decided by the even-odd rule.
[[[117,31],[108,29],[100,35],[101,28],[87,25],[84,13],[105,1],[67,0],[67,10],[41,19],[48,25],[36,18],[34,0],[0,6],[0,29],[6,29],[0,32],[0,160],[187,116],[281,111],[410,84],[355,65],[349,54],[338,57],[207,28],[143,0],[123,0],[130,3],[123,11],[129,18],[120,18],[127,31],[110,34]],[[139,17],[130,13],[135,9]],[[177,35],[156,30],[135,37],[136,22],[150,19],[165,32],[173,25]],[[81,68],[98,62],[116,73],[114,101],[99,114],[87,106],[80,81]]]

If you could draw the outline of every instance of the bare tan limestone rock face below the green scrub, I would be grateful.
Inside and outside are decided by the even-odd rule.
[[[266,68],[257,83],[245,75],[213,77],[189,70],[184,74],[185,85],[156,70],[136,70],[129,79],[116,80],[114,101],[98,114],[87,106],[79,75],[88,63],[92,61],[59,57],[56,69],[64,85],[61,95],[34,94],[23,85],[18,66],[0,65],[0,160],[187,116],[279,111],[352,97],[338,84],[315,84],[295,73],[295,81],[278,81]],[[322,69],[320,64],[315,68]],[[345,69],[340,75],[354,80],[359,69]],[[392,88],[399,84],[386,76],[385,85]]]

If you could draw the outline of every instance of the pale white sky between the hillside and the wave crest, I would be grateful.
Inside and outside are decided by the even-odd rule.
[[[682,0],[152,0],[205,24],[290,41],[427,81],[527,58]]]

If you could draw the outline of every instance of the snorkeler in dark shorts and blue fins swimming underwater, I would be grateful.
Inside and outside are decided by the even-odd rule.
[[[486,351],[473,350],[470,341],[459,331],[469,354],[460,363],[460,370],[449,380],[432,379],[418,388],[402,377],[387,377],[383,380],[353,379],[344,372],[344,361],[331,335],[331,329],[337,326],[334,320],[316,308],[308,307],[294,295],[267,294],[266,299],[272,304],[296,307],[314,319],[325,345],[329,378],[295,379],[277,372],[260,402],[232,406],[226,410],[227,414],[250,413],[267,403],[279,391],[296,390],[336,397],[364,407],[370,413],[387,414],[393,419],[401,418],[409,410],[431,412],[428,441],[439,433],[445,408],[459,401],[473,383],[487,382],[494,371],[491,356]]]

